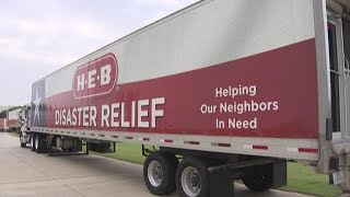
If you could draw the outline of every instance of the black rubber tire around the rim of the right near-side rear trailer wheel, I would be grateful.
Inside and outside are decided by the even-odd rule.
[[[207,160],[199,159],[199,158],[185,158],[179,163],[176,171],[176,188],[177,188],[178,195],[182,197],[190,196],[186,194],[182,183],[183,172],[187,167],[194,167],[195,170],[197,170],[198,174],[200,175],[200,179],[197,179],[198,184],[200,184],[200,192],[195,196],[208,197],[209,196],[209,176],[208,176],[209,162]]]

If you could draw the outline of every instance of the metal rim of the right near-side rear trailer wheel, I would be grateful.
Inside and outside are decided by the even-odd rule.
[[[189,197],[198,196],[201,190],[200,174],[197,169],[187,166],[182,173],[182,186],[184,192]]]

